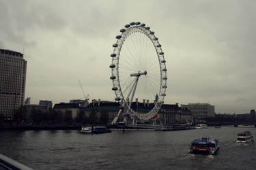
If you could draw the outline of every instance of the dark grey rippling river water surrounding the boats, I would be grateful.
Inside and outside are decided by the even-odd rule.
[[[256,143],[236,143],[254,127],[188,131],[0,131],[0,153],[33,169],[256,169]],[[218,154],[188,154],[190,142],[210,136]]]

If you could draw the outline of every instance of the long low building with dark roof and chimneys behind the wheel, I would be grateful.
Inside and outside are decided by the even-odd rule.
[[[134,112],[139,112],[140,114],[145,114],[150,112],[154,108],[154,103],[150,103],[149,100],[143,99],[143,103],[140,103],[138,99],[136,99],[131,104],[131,108]],[[120,109],[120,105],[117,102],[111,101],[98,101],[93,100],[89,105],[85,108],[85,117],[90,119],[94,114],[94,118],[96,121],[112,122],[112,120],[117,116]],[[158,112],[159,120],[164,125],[169,124],[183,124],[186,122],[192,121],[192,114],[190,110],[186,108],[179,107],[178,103],[175,105],[162,104],[161,108]],[[117,122],[122,122],[122,116],[119,116],[119,120]],[[150,122],[151,120],[144,121],[145,123]]]

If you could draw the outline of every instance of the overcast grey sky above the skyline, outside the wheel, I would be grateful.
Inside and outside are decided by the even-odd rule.
[[[0,0],[0,48],[25,53],[26,97],[53,103],[114,101],[112,44],[143,22],[167,61],[165,103],[211,103],[216,113],[256,109],[256,1]]]

